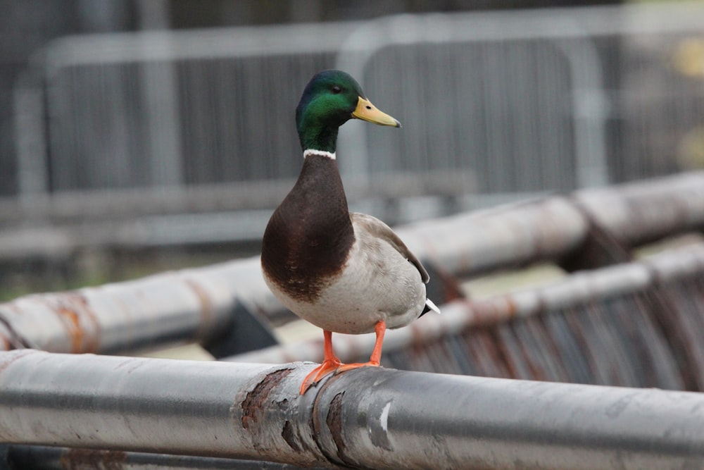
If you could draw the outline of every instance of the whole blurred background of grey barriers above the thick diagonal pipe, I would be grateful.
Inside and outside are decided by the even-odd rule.
[[[595,3],[0,0],[0,297],[256,254],[325,68],[389,223],[704,167],[704,4]]]

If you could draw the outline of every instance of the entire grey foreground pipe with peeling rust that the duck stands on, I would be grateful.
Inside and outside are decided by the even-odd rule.
[[[704,469],[704,395],[363,368],[0,353],[5,443],[377,469]]]

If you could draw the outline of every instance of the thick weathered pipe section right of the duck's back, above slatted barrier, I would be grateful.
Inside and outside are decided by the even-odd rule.
[[[455,276],[559,259],[579,249],[591,221],[627,247],[704,229],[704,172],[582,190],[423,221],[398,235]]]

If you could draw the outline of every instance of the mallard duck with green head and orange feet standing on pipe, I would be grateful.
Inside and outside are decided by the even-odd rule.
[[[272,213],[262,238],[266,285],[284,307],[322,328],[324,359],[301,384],[304,395],[331,373],[379,366],[386,328],[429,311],[427,270],[378,218],[350,212],[337,165],[337,135],[350,119],[401,128],[377,109],[351,75],[324,70],[310,79],[296,107],[303,166]],[[332,333],[376,335],[370,360],[343,364]]]

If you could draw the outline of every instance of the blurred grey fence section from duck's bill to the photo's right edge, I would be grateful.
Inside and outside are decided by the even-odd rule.
[[[368,142],[368,153],[340,164],[371,177],[469,166],[482,192],[572,190],[700,168],[702,13],[691,2],[365,23],[337,64],[413,132],[357,125],[342,143]]]

